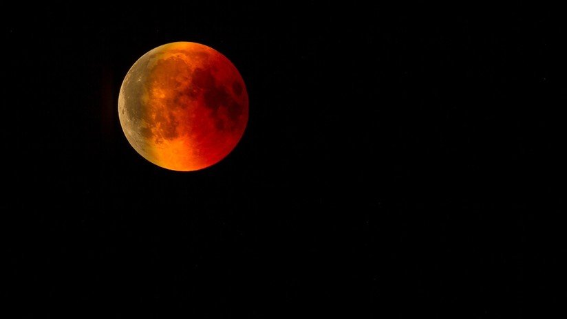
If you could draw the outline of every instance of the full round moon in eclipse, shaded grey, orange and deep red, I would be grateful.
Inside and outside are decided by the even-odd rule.
[[[144,54],[118,96],[120,125],[142,157],[170,170],[200,170],[231,153],[248,123],[236,67],[211,47],[174,42]]]

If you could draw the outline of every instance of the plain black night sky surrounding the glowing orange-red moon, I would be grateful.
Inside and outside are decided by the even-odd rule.
[[[565,28],[449,9],[3,12],[13,318],[563,318]],[[250,98],[235,151],[193,173],[117,116],[129,67],[174,41]]]

